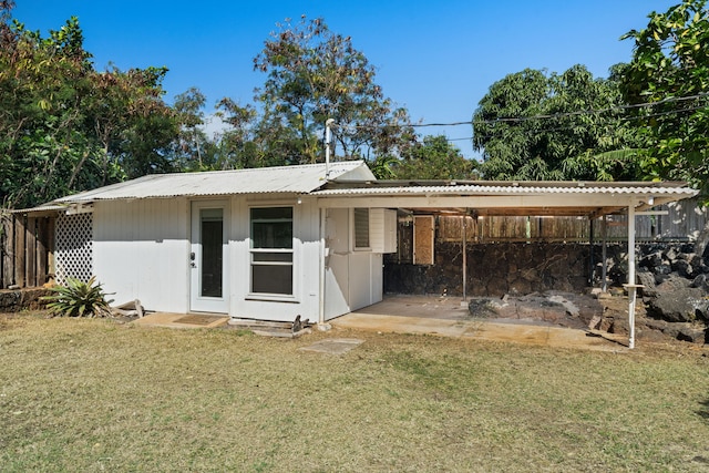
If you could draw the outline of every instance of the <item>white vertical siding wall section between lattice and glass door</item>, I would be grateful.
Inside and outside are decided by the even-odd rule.
[[[188,206],[183,198],[97,202],[94,267],[115,304],[188,310]]]

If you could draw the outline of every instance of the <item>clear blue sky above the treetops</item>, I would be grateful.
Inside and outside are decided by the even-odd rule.
[[[16,0],[14,18],[43,35],[79,17],[96,69],[165,65],[166,100],[198,88],[209,109],[223,96],[253,103],[265,74],[253,59],[277,22],[322,17],[377,68],[384,95],[422,123],[470,121],[493,82],[525,68],[596,76],[630,59],[619,41],[680,0],[183,1]],[[474,157],[470,125],[445,134]]]

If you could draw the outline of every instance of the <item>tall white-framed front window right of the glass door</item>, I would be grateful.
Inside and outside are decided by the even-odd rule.
[[[251,292],[292,295],[292,207],[253,207]]]

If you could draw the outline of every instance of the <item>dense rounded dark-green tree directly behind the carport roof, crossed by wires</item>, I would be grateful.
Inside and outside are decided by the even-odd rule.
[[[493,179],[631,178],[635,133],[619,122],[616,73],[583,65],[562,74],[526,69],[495,82],[473,115],[473,146]]]

